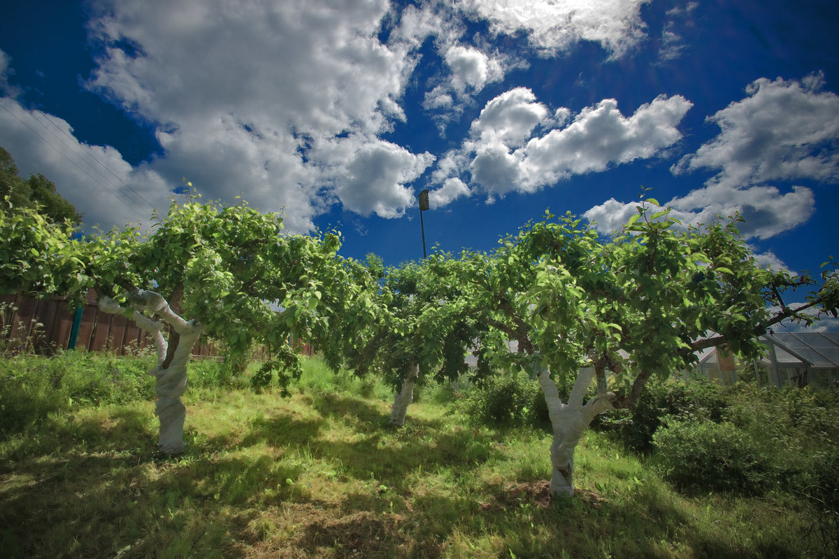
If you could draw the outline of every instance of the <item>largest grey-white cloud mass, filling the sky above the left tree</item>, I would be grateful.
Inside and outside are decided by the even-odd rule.
[[[410,49],[440,21],[416,12],[414,29],[382,44],[388,10],[386,0],[98,0],[89,28],[102,52],[87,86],[157,126],[165,154],[149,166],[169,180],[187,176],[225,199],[246,191],[263,211],[284,207],[292,231],[338,200],[399,216],[412,198],[404,181],[428,156],[377,136],[404,120]],[[350,136],[352,149],[335,149]],[[367,169],[374,160],[383,169]]]

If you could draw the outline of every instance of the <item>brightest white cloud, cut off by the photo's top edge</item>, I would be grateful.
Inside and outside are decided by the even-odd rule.
[[[486,18],[496,33],[520,29],[545,54],[567,50],[581,40],[602,45],[619,57],[646,37],[641,6],[649,0],[463,0],[456,3]]]

